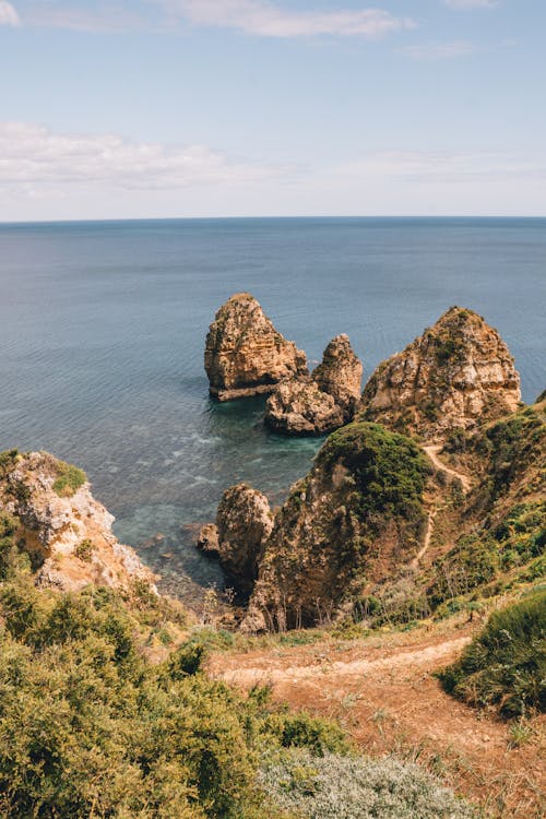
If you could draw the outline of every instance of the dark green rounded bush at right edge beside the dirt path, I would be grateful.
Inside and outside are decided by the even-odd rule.
[[[506,717],[546,711],[546,591],[492,614],[439,677],[449,693]]]

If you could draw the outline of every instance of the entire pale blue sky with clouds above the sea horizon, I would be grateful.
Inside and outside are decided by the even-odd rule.
[[[0,221],[546,216],[546,0],[0,0]]]

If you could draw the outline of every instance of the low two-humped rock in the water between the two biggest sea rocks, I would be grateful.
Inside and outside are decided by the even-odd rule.
[[[353,418],[363,365],[347,335],[336,335],[311,376],[280,383],[268,399],[265,424],[283,435],[325,435]]]

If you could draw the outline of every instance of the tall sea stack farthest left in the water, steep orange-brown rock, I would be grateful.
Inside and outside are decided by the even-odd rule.
[[[307,373],[305,353],[275,330],[248,293],[232,296],[216,313],[204,366],[218,401],[269,393],[283,379]]]

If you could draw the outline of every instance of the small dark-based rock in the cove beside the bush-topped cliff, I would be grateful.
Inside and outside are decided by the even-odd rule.
[[[222,496],[216,524],[202,527],[198,547],[218,558],[227,583],[245,597],[254,585],[263,544],[272,529],[268,498],[246,484],[237,484]]]

